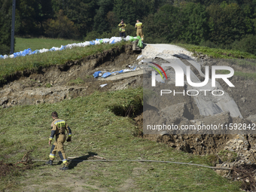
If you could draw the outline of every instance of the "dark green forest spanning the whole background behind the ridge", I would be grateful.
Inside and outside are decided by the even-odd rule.
[[[11,1],[0,1],[0,50],[7,53],[11,41]],[[58,26],[56,13],[60,10],[66,22]],[[243,39],[256,32],[255,12],[255,0],[17,0],[16,35],[79,35],[87,41],[111,38],[119,36],[117,25],[123,19],[126,35],[136,36],[134,25],[139,19],[144,24],[145,43],[184,42],[245,50]],[[246,50],[254,53],[253,44]]]

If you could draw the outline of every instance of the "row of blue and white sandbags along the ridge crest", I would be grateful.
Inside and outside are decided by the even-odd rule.
[[[115,44],[117,42],[120,42],[122,40],[124,41],[135,41],[136,39],[140,39],[139,36],[137,37],[133,37],[133,36],[129,36],[127,35],[126,38],[120,38],[120,37],[112,37],[112,38],[96,38],[95,41],[84,41],[82,43],[78,43],[78,44],[67,44],[67,45],[61,45],[61,47],[52,47],[50,49],[41,49],[41,50],[34,50],[32,51],[30,48],[20,51],[20,52],[16,52],[14,54],[11,54],[10,56],[8,55],[0,55],[0,59],[7,59],[7,58],[16,58],[18,56],[27,56],[27,55],[32,55],[32,54],[37,54],[37,53],[45,53],[47,51],[57,51],[57,50],[65,50],[65,49],[72,49],[73,47],[86,47],[89,45],[94,45],[94,44]],[[139,44],[138,44],[139,45]]]

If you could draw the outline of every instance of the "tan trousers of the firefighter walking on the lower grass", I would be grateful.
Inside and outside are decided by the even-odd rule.
[[[56,156],[56,151],[58,151],[59,157],[62,160],[62,163],[66,166],[69,166],[65,151],[64,151],[64,142],[66,142],[66,135],[60,134],[56,136],[56,141],[53,143],[50,149],[50,160],[54,160]]]

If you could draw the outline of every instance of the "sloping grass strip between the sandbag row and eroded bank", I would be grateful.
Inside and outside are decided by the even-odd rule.
[[[74,47],[72,49],[59,50],[47,53],[38,53],[30,56],[20,56],[14,59],[0,59],[0,84],[5,82],[8,75],[15,72],[23,72],[26,69],[38,69],[39,67],[48,67],[62,65],[68,61],[81,59],[84,56],[90,56],[96,53],[102,53],[111,48],[120,48],[130,42],[120,42],[116,44],[98,44],[87,47]]]

